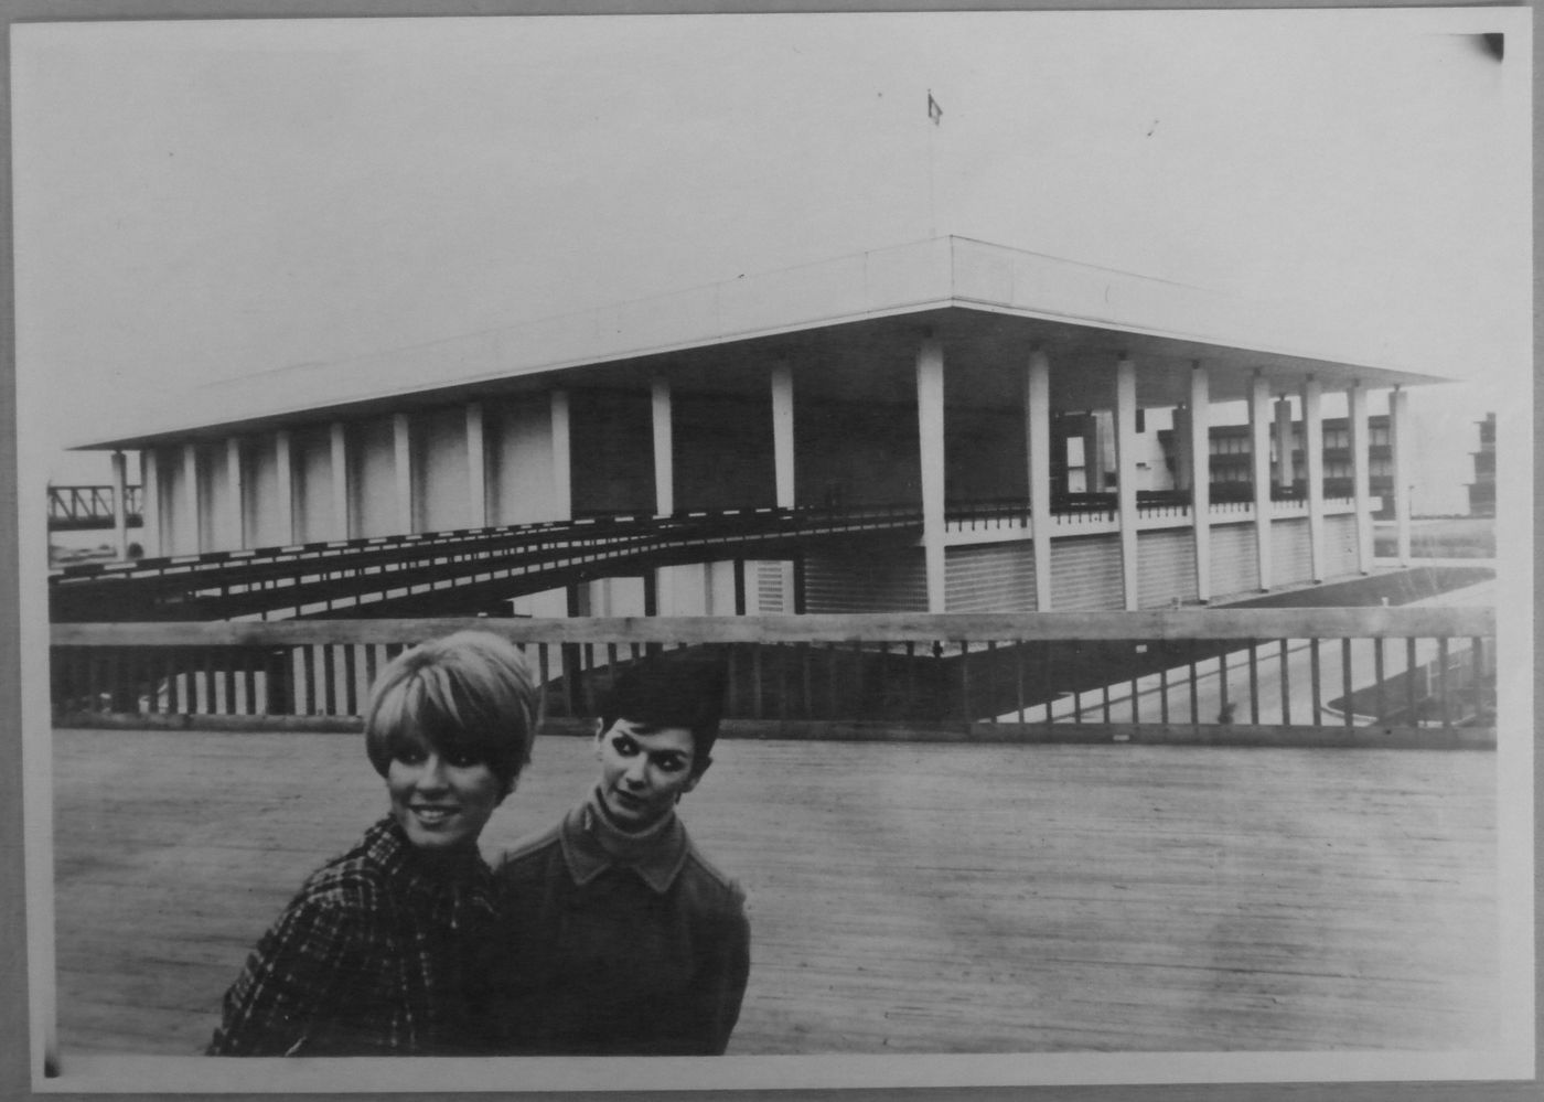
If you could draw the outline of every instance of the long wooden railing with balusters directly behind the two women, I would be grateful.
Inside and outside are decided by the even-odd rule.
[[[699,648],[727,730],[764,738],[1492,745],[1488,608],[999,616],[412,619],[52,627],[60,725],[358,725],[405,647],[465,627],[527,653],[556,728],[624,664]]]

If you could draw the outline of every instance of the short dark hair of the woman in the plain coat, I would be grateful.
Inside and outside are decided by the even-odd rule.
[[[729,670],[721,657],[670,653],[641,659],[618,671],[601,695],[601,730],[618,719],[644,727],[686,727],[692,732],[692,772],[713,759],[724,716]]]

